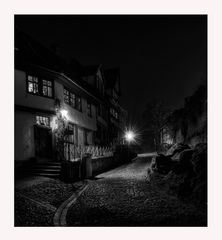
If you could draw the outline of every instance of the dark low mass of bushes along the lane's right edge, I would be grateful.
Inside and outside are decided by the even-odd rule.
[[[180,148],[183,149],[183,148]],[[173,153],[178,153],[174,149]],[[159,155],[151,163],[148,175],[162,174],[162,181],[167,190],[181,198],[188,198],[194,203],[207,203],[207,144],[198,144],[194,149],[180,152],[178,161],[170,156]],[[155,178],[153,178],[155,179]]]

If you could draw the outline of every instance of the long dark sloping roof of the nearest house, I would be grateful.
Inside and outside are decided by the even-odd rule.
[[[98,91],[79,77],[82,66],[77,60],[73,59],[70,64],[67,64],[64,59],[53,51],[44,47],[18,28],[15,28],[15,67],[23,68],[29,65],[43,67],[55,71],[61,76],[70,78],[73,83],[76,83],[97,99],[103,101]],[[87,69],[87,73],[90,73],[96,69],[96,66],[88,66],[84,67],[84,69]]]

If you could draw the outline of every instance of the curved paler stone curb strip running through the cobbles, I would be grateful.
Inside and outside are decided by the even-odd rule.
[[[59,208],[57,209],[54,218],[53,223],[56,227],[65,227],[67,226],[66,223],[66,215],[69,210],[69,208],[75,203],[75,201],[78,199],[78,197],[86,190],[88,187],[88,182],[86,182],[85,186],[83,186],[80,190],[73,193],[73,195],[68,198],[65,202],[63,202]]]

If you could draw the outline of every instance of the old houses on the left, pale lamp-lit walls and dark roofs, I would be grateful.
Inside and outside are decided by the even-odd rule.
[[[107,80],[101,66],[70,69],[60,57],[16,30],[15,160],[56,159],[58,111],[67,122],[67,160],[86,146],[111,145]],[[118,135],[119,129],[117,123],[113,131]]]

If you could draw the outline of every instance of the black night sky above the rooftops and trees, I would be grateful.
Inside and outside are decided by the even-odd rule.
[[[16,25],[83,65],[120,67],[121,104],[138,122],[148,99],[183,106],[206,78],[206,16],[17,16]]]

